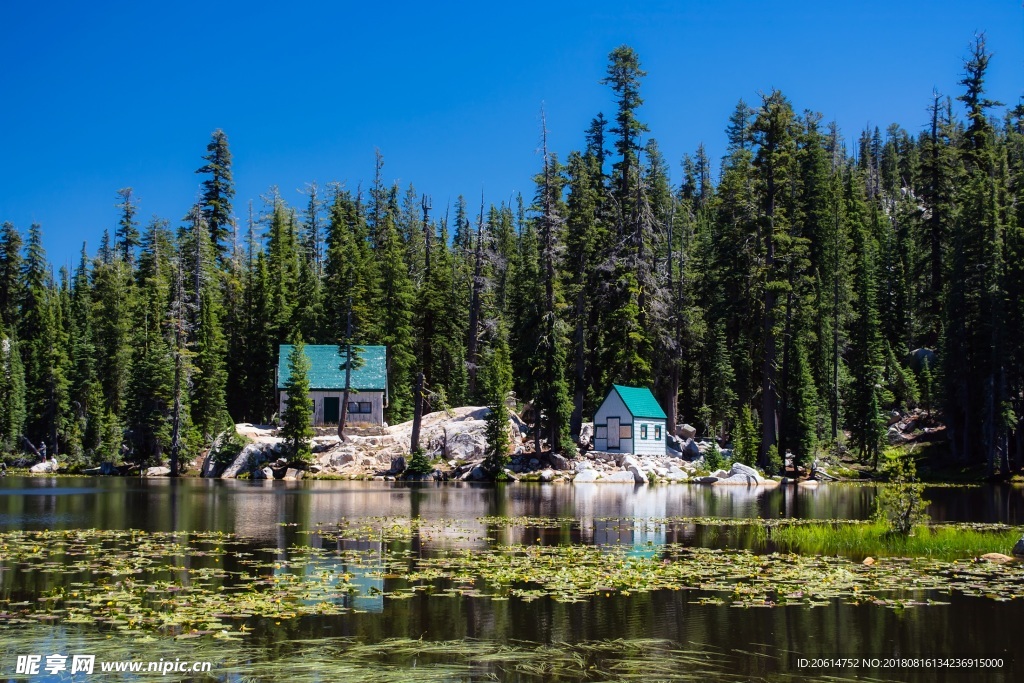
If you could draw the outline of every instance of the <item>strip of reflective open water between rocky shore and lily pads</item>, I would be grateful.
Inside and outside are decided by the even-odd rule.
[[[342,518],[460,519],[474,536],[482,516],[571,517],[585,529],[606,517],[865,519],[876,489],[611,484],[466,483],[403,485],[371,481],[218,481],[205,479],[0,479],[0,529],[221,530],[287,544],[283,524],[315,528]],[[1024,523],[1024,489],[931,487],[936,521]],[[443,531],[442,531],[443,532]],[[596,532],[596,531],[595,531]],[[453,542],[461,533],[453,533]],[[591,541],[586,538],[585,541]],[[435,542],[437,542],[435,540]]]

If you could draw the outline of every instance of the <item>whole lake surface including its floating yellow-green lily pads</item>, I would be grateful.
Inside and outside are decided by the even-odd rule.
[[[69,680],[45,655],[92,653],[211,663],[166,680],[1022,680],[1024,600],[988,588],[1019,568],[907,562],[882,585],[861,557],[772,555],[758,521],[866,519],[874,495],[6,477],[0,679]],[[926,498],[933,521],[1024,525],[1020,487]],[[18,676],[30,654],[41,675]]]

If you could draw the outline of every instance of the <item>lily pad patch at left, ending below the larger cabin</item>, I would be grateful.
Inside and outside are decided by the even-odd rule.
[[[324,565],[312,548],[272,560],[248,549],[243,540],[216,531],[2,533],[0,567],[38,572],[33,585],[41,595],[0,593],[0,624],[47,618],[119,631],[212,634],[241,631],[253,616],[346,609],[355,588],[343,556]]]

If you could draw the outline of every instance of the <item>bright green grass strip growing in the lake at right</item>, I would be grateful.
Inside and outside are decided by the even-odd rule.
[[[1002,525],[919,525],[912,536],[901,537],[879,523],[831,523],[779,526],[771,529],[770,540],[801,554],[954,560],[986,553],[1007,554],[1020,536],[1021,529]]]

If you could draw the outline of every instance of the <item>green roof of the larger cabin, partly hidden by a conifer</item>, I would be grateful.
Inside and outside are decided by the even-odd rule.
[[[351,388],[356,391],[385,391],[387,389],[387,348],[384,346],[352,346],[356,359],[352,368]],[[282,344],[278,351],[278,388],[288,383],[288,356],[291,344]],[[309,388],[319,390],[345,389],[345,353],[335,344],[306,345],[309,358]],[[361,361],[361,362],[359,362]]]

